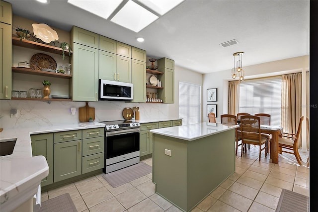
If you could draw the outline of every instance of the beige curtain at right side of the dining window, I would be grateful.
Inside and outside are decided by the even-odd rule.
[[[282,127],[284,132],[297,132],[302,116],[302,73],[282,76]],[[298,147],[302,147],[301,137]]]

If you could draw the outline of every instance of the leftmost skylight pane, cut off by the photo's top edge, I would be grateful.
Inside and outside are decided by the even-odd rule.
[[[68,0],[69,3],[107,19],[123,0]]]

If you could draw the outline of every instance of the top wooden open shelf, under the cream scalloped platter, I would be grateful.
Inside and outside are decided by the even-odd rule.
[[[50,46],[50,45],[43,44],[43,43],[34,42],[31,40],[20,41],[20,38],[18,38],[18,37],[12,37],[12,44],[15,46],[37,49],[37,50],[46,51],[46,52],[50,52],[50,53],[54,53],[54,54],[60,54],[60,55],[62,55],[62,52],[63,52],[62,48]],[[69,56],[69,50],[66,49],[64,52],[65,52],[65,56]],[[73,53],[73,52],[70,51],[70,53]]]

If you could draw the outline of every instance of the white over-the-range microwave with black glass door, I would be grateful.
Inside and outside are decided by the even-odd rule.
[[[132,83],[99,79],[99,100],[133,100]]]

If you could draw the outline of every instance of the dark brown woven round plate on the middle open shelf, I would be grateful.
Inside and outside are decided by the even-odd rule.
[[[53,57],[47,55],[38,53],[31,57],[31,68],[32,69],[52,69],[56,70],[56,61],[53,59]]]

